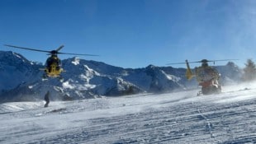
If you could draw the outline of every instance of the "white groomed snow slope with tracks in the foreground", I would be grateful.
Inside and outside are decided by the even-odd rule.
[[[256,84],[0,105],[0,143],[256,143]]]

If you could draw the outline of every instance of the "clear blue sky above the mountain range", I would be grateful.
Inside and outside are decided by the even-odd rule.
[[[254,0],[1,0],[0,44],[61,52],[118,67],[256,57]],[[9,49],[45,63],[45,53]],[[59,58],[71,58],[59,55]],[[218,62],[216,65],[224,65]],[[185,65],[173,65],[185,67]]]

